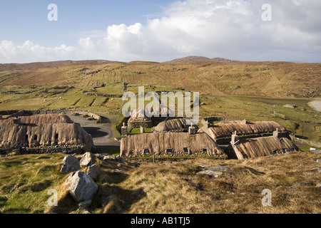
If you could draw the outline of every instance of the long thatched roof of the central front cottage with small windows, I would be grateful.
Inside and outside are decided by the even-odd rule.
[[[223,150],[205,133],[143,133],[121,139],[121,156],[143,155],[146,149],[154,155],[166,154],[168,149],[173,153],[183,153],[184,148],[191,154],[208,152],[209,155],[223,155]]]

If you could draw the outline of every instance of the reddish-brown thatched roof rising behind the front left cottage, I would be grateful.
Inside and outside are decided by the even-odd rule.
[[[73,123],[68,115],[61,114],[46,114],[46,115],[30,115],[30,116],[19,116],[21,123]],[[8,118],[0,120],[0,123],[11,123],[15,118]]]

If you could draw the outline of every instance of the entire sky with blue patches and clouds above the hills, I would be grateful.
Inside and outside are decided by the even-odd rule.
[[[0,63],[185,56],[321,63],[320,12],[320,0],[6,0]]]

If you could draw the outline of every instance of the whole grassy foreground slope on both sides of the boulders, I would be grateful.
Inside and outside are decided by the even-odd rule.
[[[59,172],[63,154],[0,157],[0,209],[4,213],[81,213]],[[78,156],[78,158],[80,158]],[[180,162],[98,160],[103,173],[91,213],[315,213],[320,214],[320,155],[294,152],[250,160],[191,159]],[[197,175],[200,165],[227,166],[222,177]],[[114,172],[115,169],[124,173]],[[83,170],[86,170],[83,167]],[[304,183],[302,183],[304,182]],[[298,185],[298,183],[301,183]],[[297,186],[297,187],[295,187]],[[58,191],[49,207],[48,191]],[[263,207],[261,192],[272,193]]]

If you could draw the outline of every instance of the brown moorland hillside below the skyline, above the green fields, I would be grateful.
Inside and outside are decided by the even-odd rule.
[[[192,62],[190,62],[191,60]],[[96,86],[127,82],[175,86],[213,95],[320,96],[321,64],[283,62],[229,62],[187,57],[168,63],[62,61],[2,64],[1,91],[7,86]]]

